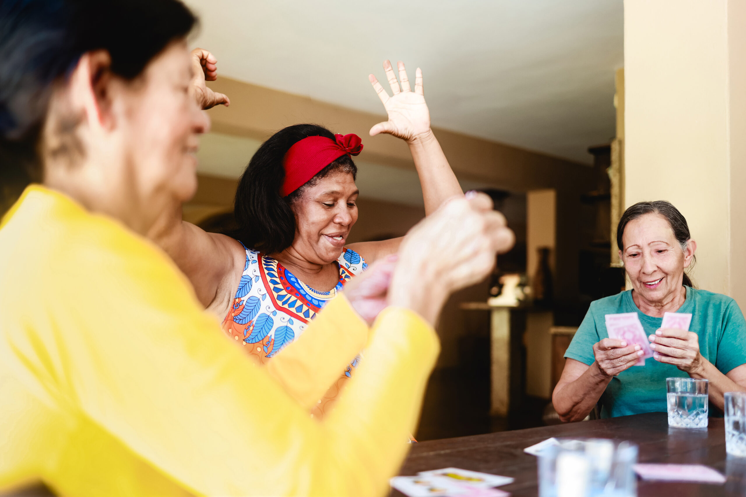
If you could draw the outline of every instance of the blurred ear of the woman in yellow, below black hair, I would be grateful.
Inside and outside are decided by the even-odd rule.
[[[110,129],[111,56],[108,51],[86,52],[70,75],[70,98],[73,109],[85,116],[90,127]]]

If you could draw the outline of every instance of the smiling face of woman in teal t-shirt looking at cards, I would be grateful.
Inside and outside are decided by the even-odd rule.
[[[648,303],[665,303],[681,291],[684,269],[692,264],[696,243],[686,250],[662,215],[645,214],[627,223],[619,256],[639,297]]]

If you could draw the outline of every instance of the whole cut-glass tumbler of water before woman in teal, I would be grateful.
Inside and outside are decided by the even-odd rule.
[[[668,390],[668,426],[707,428],[707,380],[666,378]]]

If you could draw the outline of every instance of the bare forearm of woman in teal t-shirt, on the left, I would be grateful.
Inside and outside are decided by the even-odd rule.
[[[582,421],[592,411],[598,399],[611,382],[604,376],[595,362],[573,382],[557,385],[552,395],[552,403],[560,420],[564,422]]]

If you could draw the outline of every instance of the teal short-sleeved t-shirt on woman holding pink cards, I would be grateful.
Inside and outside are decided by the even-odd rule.
[[[734,367],[746,364],[746,321],[736,301],[711,291],[685,288],[686,301],[677,312],[692,314],[689,331],[699,335],[703,357],[715,364],[721,373],[728,373]],[[565,357],[589,366],[593,364],[593,345],[603,338],[609,338],[604,316],[623,312],[636,312],[647,335],[653,335],[663,320],[662,317],[643,314],[632,300],[631,290],[595,300],[577,329]],[[601,417],[665,412],[665,379],[687,376],[673,364],[647,358],[645,366],[630,367],[609,382],[599,401]]]

